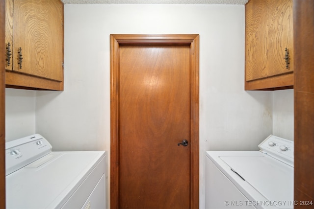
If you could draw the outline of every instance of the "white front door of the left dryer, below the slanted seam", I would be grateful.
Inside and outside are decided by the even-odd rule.
[[[82,209],[105,209],[105,175],[99,180],[98,184],[89,195]]]

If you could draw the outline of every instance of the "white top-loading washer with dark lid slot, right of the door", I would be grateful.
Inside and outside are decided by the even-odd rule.
[[[294,142],[270,135],[260,151],[206,152],[206,209],[292,209]]]

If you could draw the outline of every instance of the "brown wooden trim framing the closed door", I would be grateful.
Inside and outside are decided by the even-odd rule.
[[[119,72],[120,45],[189,45],[191,89],[191,185],[190,208],[199,208],[199,35],[110,35],[110,208],[119,207]]]

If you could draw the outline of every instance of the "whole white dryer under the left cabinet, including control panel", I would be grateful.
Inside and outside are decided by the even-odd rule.
[[[7,209],[105,209],[105,151],[52,152],[35,134],[5,143]]]

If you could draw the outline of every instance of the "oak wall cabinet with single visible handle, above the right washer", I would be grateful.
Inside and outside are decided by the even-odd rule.
[[[245,5],[245,90],[293,88],[292,4],[249,0]]]

